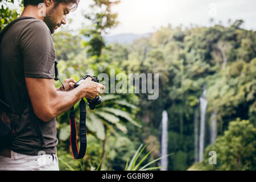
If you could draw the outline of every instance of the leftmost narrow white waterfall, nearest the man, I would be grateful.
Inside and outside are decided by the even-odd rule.
[[[162,135],[161,135],[161,157],[168,155],[168,114],[166,110],[162,113]],[[161,171],[168,169],[168,157],[160,160]]]

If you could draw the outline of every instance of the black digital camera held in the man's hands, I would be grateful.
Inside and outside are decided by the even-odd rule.
[[[74,88],[77,88],[77,86],[79,86],[81,84],[81,82],[84,81],[88,77],[91,77],[92,81],[94,81],[94,82],[97,82],[97,83],[100,82],[100,80],[98,80],[98,77],[96,77],[96,76],[85,75],[79,81],[76,82],[76,84],[74,85]],[[88,98],[86,98],[86,100],[88,101],[88,105],[89,105],[91,110],[95,109],[96,105],[99,105],[99,104],[101,104],[101,102],[104,101],[101,96],[98,96],[98,97],[94,98],[94,100],[89,100]]]

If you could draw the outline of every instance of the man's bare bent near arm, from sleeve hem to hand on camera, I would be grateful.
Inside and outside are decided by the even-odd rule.
[[[105,86],[87,78],[76,89],[68,92],[57,91],[53,79],[25,78],[28,95],[36,116],[42,121],[49,121],[64,113],[76,104],[81,98],[93,100],[102,93]]]

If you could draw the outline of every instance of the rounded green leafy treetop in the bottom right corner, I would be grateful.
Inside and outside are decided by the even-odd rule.
[[[192,168],[203,170],[253,170],[256,169],[256,129],[246,120],[229,123],[224,135],[205,149],[205,159]],[[209,151],[216,151],[217,164],[208,162]]]

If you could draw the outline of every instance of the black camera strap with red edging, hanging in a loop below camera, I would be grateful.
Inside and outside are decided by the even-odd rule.
[[[71,134],[70,134],[70,143],[72,148],[72,155],[74,159],[82,159],[84,158],[86,152],[86,102],[84,98],[79,102],[80,108],[80,125],[79,125],[79,136],[80,136],[80,150],[78,151],[77,146],[77,133],[76,133],[76,115],[74,112],[74,106],[71,108],[70,113],[70,127],[71,127]]]

